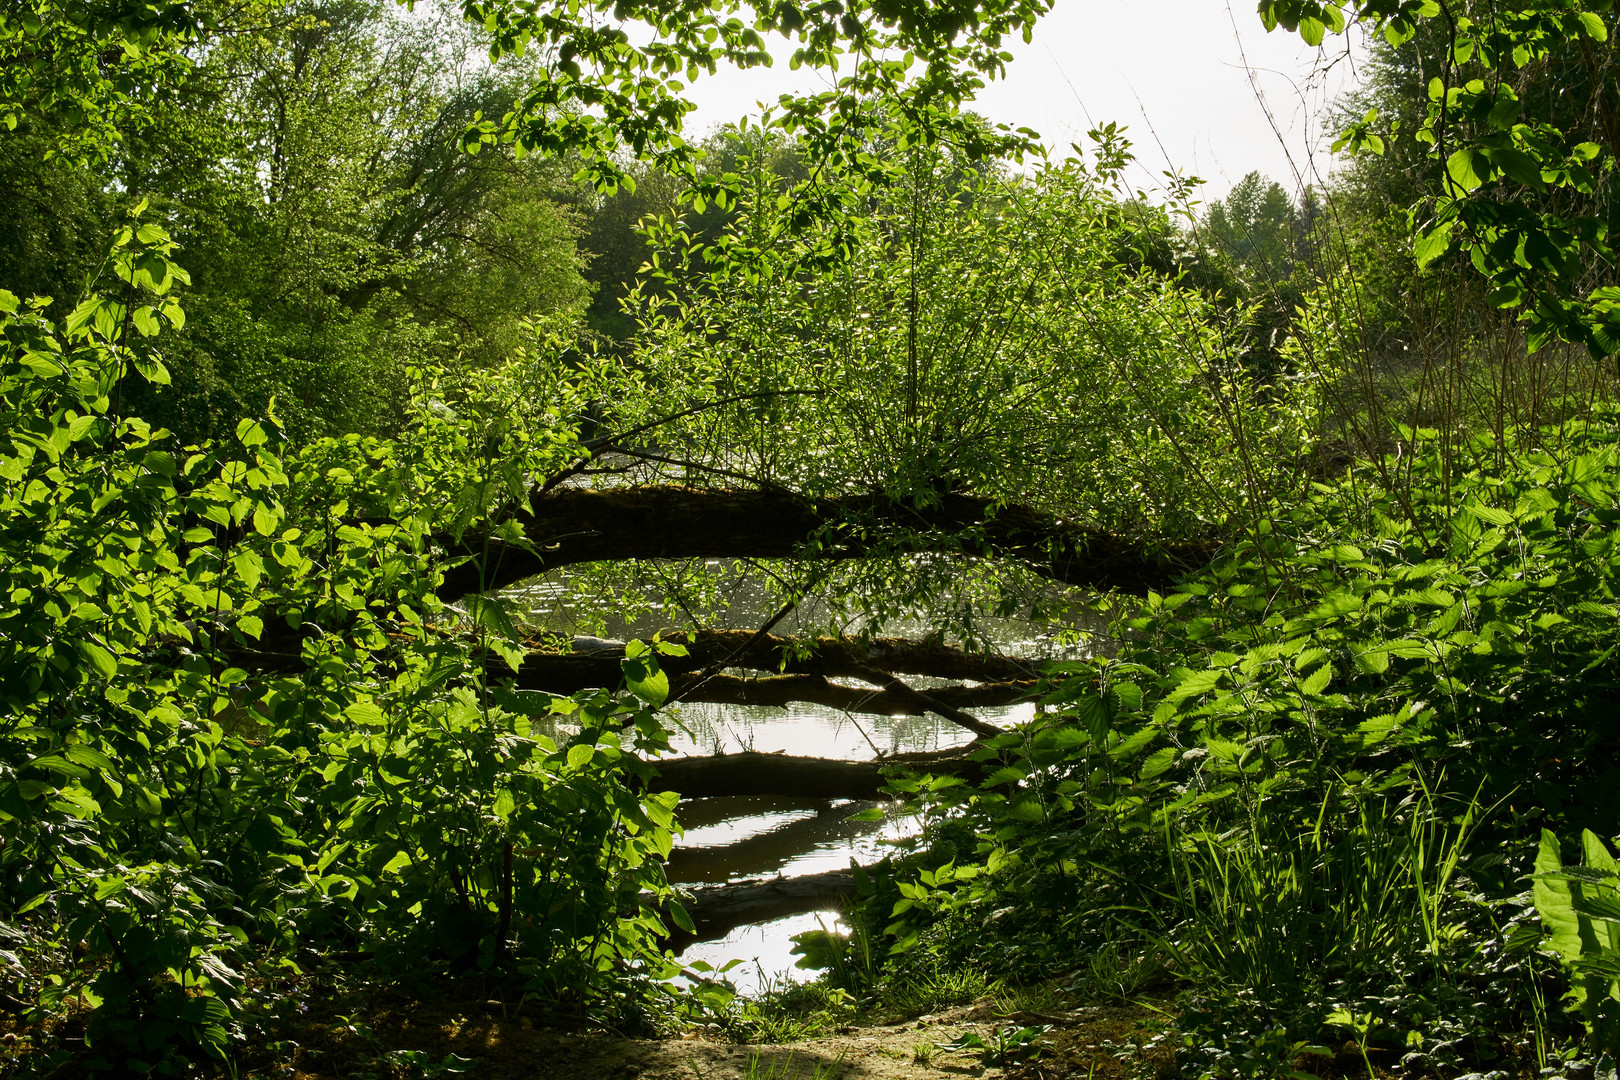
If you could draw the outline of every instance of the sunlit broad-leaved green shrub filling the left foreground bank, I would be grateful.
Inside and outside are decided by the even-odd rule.
[[[517,649],[434,597],[431,536],[492,497],[450,436],[488,424],[290,452],[272,419],[181,449],[120,415],[167,379],[168,254],[125,228],[60,324],[0,291],[0,981],[63,1033],[31,1065],[76,1025],[91,1069],[227,1062],[275,1006],[256,973],[329,952],[633,1006],[676,827],[622,742],[664,745],[654,654],[640,696],[481,677]],[[434,455],[476,491],[420,499]]]

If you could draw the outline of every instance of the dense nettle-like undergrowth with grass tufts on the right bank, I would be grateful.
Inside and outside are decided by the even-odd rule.
[[[1401,434],[1398,491],[1314,486],[1053,669],[985,780],[896,780],[935,824],[868,910],[891,978],[1168,970],[1192,1075],[1557,1064],[1528,874],[1536,829],[1615,821],[1617,418],[1476,440],[1461,476]],[[1103,950],[1137,960],[1098,981]]]

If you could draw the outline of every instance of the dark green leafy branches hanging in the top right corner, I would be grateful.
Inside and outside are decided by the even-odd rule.
[[[1414,130],[1379,130],[1377,113],[1335,149],[1383,154],[1411,139],[1443,162],[1437,185],[1411,209],[1419,267],[1448,251],[1468,257],[1490,303],[1516,311],[1531,347],[1584,345],[1620,353],[1620,282],[1614,248],[1615,123],[1612,0],[1262,0],[1267,29],[1283,26],[1317,45],[1359,19],[1392,45],[1429,21],[1443,49]],[[1589,100],[1573,123],[1552,115],[1552,81],[1573,62]],[[1568,78],[1568,76],[1563,76]],[[1567,118],[1573,120],[1573,118]]]

